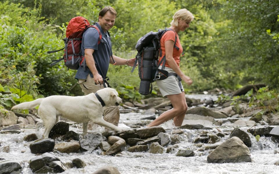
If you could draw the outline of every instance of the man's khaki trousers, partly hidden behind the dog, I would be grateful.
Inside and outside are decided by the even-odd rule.
[[[95,85],[94,78],[90,77],[88,74],[86,79],[79,79],[78,80],[79,86],[82,89],[82,92],[84,95],[95,93],[99,89],[103,89],[104,86],[97,84]],[[112,106],[112,107],[106,107],[104,106],[104,120],[107,122],[110,122],[116,126],[118,126],[119,118],[120,118],[120,112],[119,112],[119,106]]]

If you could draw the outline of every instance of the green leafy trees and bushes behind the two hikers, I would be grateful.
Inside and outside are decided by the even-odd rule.
[[[185,53],[180,67],[193,80],[191,86],[183,84],[186,93],[255,83],[278,89],[278,4],[279,0],[0,0],[0,111],[39,97],[83,95],[74,70],[67,70],[63,61],[50,66],[63,51],[47,51],[64,47],[61,35],[71,18],[97,21],[104,6],[118,13],[110,30],[113,53],[126,59],[136,55],[135,44],[145,33],[169,27],[178,9],[194,14],[190,28],[179,33]],[[130,71],[128,66],[110,65],[109,82],[120,97],[138,100],[145,96],[137,92],[137,71]],[[149,96],[157,92],[155,85]]]

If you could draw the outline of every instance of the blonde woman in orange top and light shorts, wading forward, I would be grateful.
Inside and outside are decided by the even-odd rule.
[[[177,33],[189,28],[190,22],[193,21],[194,16],[187,9],[180,9],[172,18],[170,29],[173,31],[167,31],[160,40],[162,56],[159,58],[158,62],[161,62],[162,58],[165,56],[166,63],[164,70],[169,73],[176,73],[187,85],[191,85],[191,78],[186,76],[179,68],[180,55],[183,50]],[[177,38],[176,44],[175,37]],[[177,49],[174,44],[179,49]],[[162,63],[159,66],[159,69],[161,68]],[[168,76],[166,79],[156,80],[156,82],[163,97],[167,96],[173,108],[161,114],[157,119],[147,125],[147,127],[158,126],[170,119],[173,119],[175,126],[181,126],[188,107],[182,85],[179,85],[180,82],[175,76]]]

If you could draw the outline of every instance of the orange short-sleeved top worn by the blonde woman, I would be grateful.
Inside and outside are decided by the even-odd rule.
[[[162,60],[162,58],[166,55],[166,52],[165,52],[165,42],[166,42],[167,40],[173,40],[173,41],[175,42],[175,36],[176,36],[176,38],[177,38],[175,45],[179,48],[179,50],[177,50],[177,49],[174,47],[174,48],[173,48],[172,57],[174,58],[175,62],[177,63],[177,66],[179,67],[179,64],[180,64],[180,55],[181,55],[182,52],[183,52],[183,48],[182,48],[182,46],[181,46],[181,43],[180,43],[180,40],[179,40],[179,37],[178,37],[177,33],[174,32],[174,31],[167,31],[167,32],[162,36],[162,38],[161,38],[161,40],[160,40],[161,49],[162,49],[162,56],[159,58],[158,64],[160,63],[160,61]],[[162,65],[162,63],[161,63],[161,65]],[[167,61],[166,61],[165,66],[170,68],[170,65],[167,63]]]

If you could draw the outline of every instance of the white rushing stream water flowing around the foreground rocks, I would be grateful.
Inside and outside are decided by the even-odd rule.
[[[126,125],[133,125],[137,123],[149,123],[148,120],[140,120],[146,117],[141,113],[125,113],[120,114],[120,127],[127,127]],[[174,126],[172,121],[162,124],[166,129],[167,134],[171,134]],[[260,126],[257,126],[260,127]],[[233,127],[223,126],[217,127],[223,133],[229,133]],[[240,127],[242,130],[247,130],[249,127]],[[81,131],[80,126],[70,126],[70,130]],[[32,173],[28,168],[28,161],[34,158],[34,154],[30,152],[29,143],[23,141],[23,137],[27,134],[34,133],[34,129],[22,129],[20,134],[0,134],[0,158],[5,160],[20,161],[23,166],[22,173]],[[102,132],[104,128],[96,126],[92,132]],[[191,143],[192,140],[201,133],[202,130],[184,130],[181,134],[182,142],[179,143],[180,149],[190,149],[195,152],[194,157],[177,157],[175,154],[163,153],[152,154],[147,152],[130,153],[124,152],[123,156],[102,156],[100,149],[95,151],[87,151],[80,153],[54,153],[64,164],[70,163],[74,158],[80,158],[87,163],[85,168],[69,168],[63,174],[76,173],[93,173],[98,168],[106,165],[116,167],[121,174],[163,174],[163,173],[217,173],[217,174],[279,174],[279,166],[274,165],[279,161],[279,154],[275,154],[275,149],[278,144],[274,143],[269,137],[261,137],[260,141],[256,141],[254,136],[250,134],[252,140],[252,147],[249,148],[251,152],[252,163],[207,163],[208,150],[200,150],[198,144]],[[41,137],[43,128],[36,134]],[[210,130],[212,134],[218,133],[217,129]],[[80,133],[80,132],[79,132]],[[220,142],[227,140],[229,135],[223,137]],[[59,143],[56,141],[56,143]],[[165,149],[166,150],[166,149]]]

